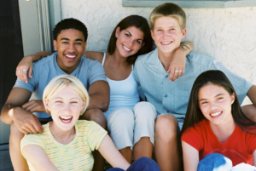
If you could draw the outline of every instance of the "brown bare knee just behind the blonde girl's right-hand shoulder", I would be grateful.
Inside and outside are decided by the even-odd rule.
[[[88,121],[94,121],[102,126],[102,128],[107,128],[106,117],[103,112],[99,109],[90,109],[85,111],[84,115],[81,116],[82,119],[86,119]]]

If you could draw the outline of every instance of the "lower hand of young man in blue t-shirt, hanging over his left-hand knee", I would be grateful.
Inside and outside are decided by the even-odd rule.
[[[44,127],[38,120],[38,117],[20,107],[16,107],[13,115],[15,126],[23,134],[43,133]]]

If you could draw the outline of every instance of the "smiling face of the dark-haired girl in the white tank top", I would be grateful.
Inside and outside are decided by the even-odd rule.
[[[135,26],[128,27],[123,31],[117,27],[115,37],[117,37],[115,52],[118,52],[122,57],[136,54],[143,47],[143,31]]]

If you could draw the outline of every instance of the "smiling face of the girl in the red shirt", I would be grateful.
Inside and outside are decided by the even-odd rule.
[[[235,94],[230,95],[223,87],[208,83],[198,92],[198,103],[210,124],[228,124],[233,121],[231,105]]]

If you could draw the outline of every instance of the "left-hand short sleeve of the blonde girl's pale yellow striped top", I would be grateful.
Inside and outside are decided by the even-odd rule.
[[[20,151],[25,157],[23,153],[23,148],[26,145],[38,145],[45,149],[44,141],[38,136],[38,134],[26,134],[20,142]],[[26,158],[26,157],[25,157]]]

